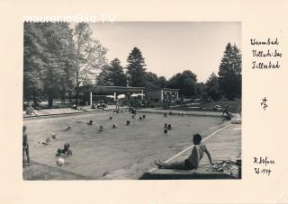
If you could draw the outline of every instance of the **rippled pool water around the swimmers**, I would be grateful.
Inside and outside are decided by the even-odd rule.
[[[139,120],[143,114],[146,118]],[[87,125],[89,120],[94,124]],[[130,120],[129,126],[126,120]],[[164,134],[165,123],[172,125],[167,134]],[[103,173],[117,171],[137,179],[154,165],[155,159],[175,155],[192,144],[193,134],[220,123],[220,117],[138,113],[132,119],[129,112],[113,114],[112,111],[24,120],[32,161],[94,179],[103,179]],[[112,124],[117,128],[112,129]],[[103,131],[98,130],[100,125]],[[71,129],[65,130],[67,126]],[[52,133],[56,134],[56,140],[47,146],[40,144]],[[70,144],[73,155],[65,158],[63,166],[58,166],[55,155],[65,143]]]

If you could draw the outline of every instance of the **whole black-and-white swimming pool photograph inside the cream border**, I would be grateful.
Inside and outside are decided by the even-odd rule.
[[[241,179],[241,22],[24,22],[23,180]]]

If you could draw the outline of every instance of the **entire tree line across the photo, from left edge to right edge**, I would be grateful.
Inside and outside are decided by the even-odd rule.
[[[96,77],[99,85],[177,88],[184,97],[207,95],[213,100],[241,95],[241,54],[236,45],[226,46],[218,75],[211,74],[205,84],[197,82],[191,70],[173,75],[169,80],[146,69],[140,49],[131,50],[127,66],[118,58],[107,62],[105,49],[94,40],[88,23],[25,22],[23,45],[23,100],[79,99],[79,87],[91,84]],[[101,70],[96,75],[97,70]]]

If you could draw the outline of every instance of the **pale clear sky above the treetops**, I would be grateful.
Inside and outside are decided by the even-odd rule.
[[[230,42],[241,49],[240,22],[105,22],[91,23],[94,38],[108,49],[106,58],[127,65],[130,51],[141,50],[147,71],[169,79],[184,70],[205,83],[218,73]]]

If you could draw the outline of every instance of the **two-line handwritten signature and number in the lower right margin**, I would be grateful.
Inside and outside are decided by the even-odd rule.
[[[267,156],[254,157],[254,164],[256,166],[254,168],[256,174],[266,174],[269,176],[272,173],[272,166],[275,164],[275,160],[269,159]]]

